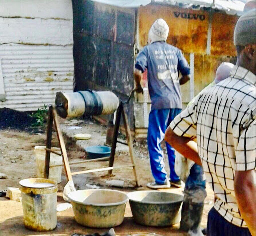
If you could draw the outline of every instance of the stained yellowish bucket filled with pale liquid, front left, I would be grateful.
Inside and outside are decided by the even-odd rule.
[[[19,182],[24,225],[35,231],[49,231],[57,226],[57,183],[50,179],[32,178]]]

